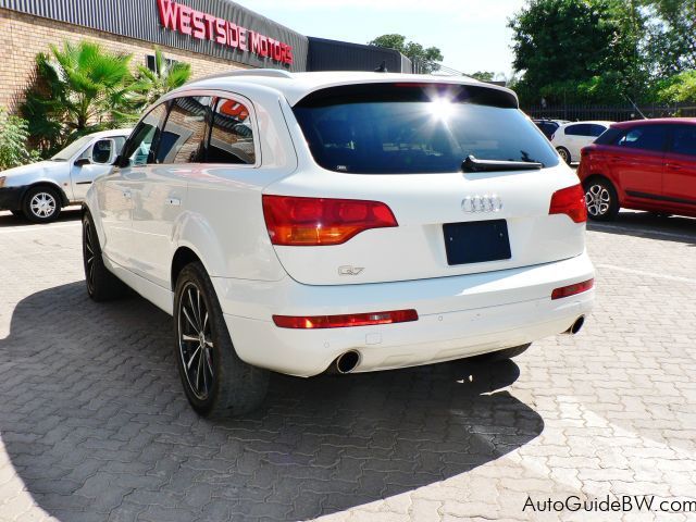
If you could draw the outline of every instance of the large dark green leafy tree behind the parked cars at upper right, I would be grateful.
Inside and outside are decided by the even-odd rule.
[[[523,103],[625,102],[646,90],[637,2],[530,0],[509,21]]]

